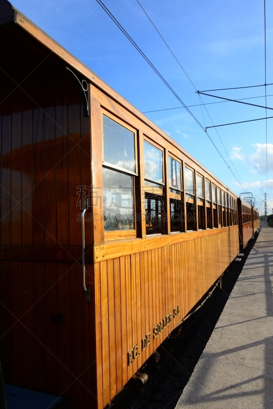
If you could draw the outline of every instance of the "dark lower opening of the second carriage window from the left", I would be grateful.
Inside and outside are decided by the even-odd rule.
[[[164,233],[162,196],[145,193],[146,234]]]

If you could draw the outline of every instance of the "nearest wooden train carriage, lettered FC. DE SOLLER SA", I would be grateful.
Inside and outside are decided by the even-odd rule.
[[[0,24],[4,379],[101,409],[236,257],[236,196],[5,1]]]

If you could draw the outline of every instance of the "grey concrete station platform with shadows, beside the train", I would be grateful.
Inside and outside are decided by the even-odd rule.
[[[273,229],[263,228],[177,409],[272,409]]]

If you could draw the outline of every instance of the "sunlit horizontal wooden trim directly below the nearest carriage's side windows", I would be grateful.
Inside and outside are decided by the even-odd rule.
[[[238,226],[210,230],[199,230],[197,232],[177,233],[171,235],[158,235],[146,239],[134,239],[115,241],[103,245],[94,246],[94,263],[110,260],[112,258],[127,256],[135,253],[145,252],[154,248],[160,248],[185,241],[200,239],[214,234],[224,233],[228,230],[238,230]]]

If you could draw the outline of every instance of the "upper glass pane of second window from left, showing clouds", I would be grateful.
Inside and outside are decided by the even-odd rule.
[[[144,141],[145,178],[163,183],[162,151]]]

